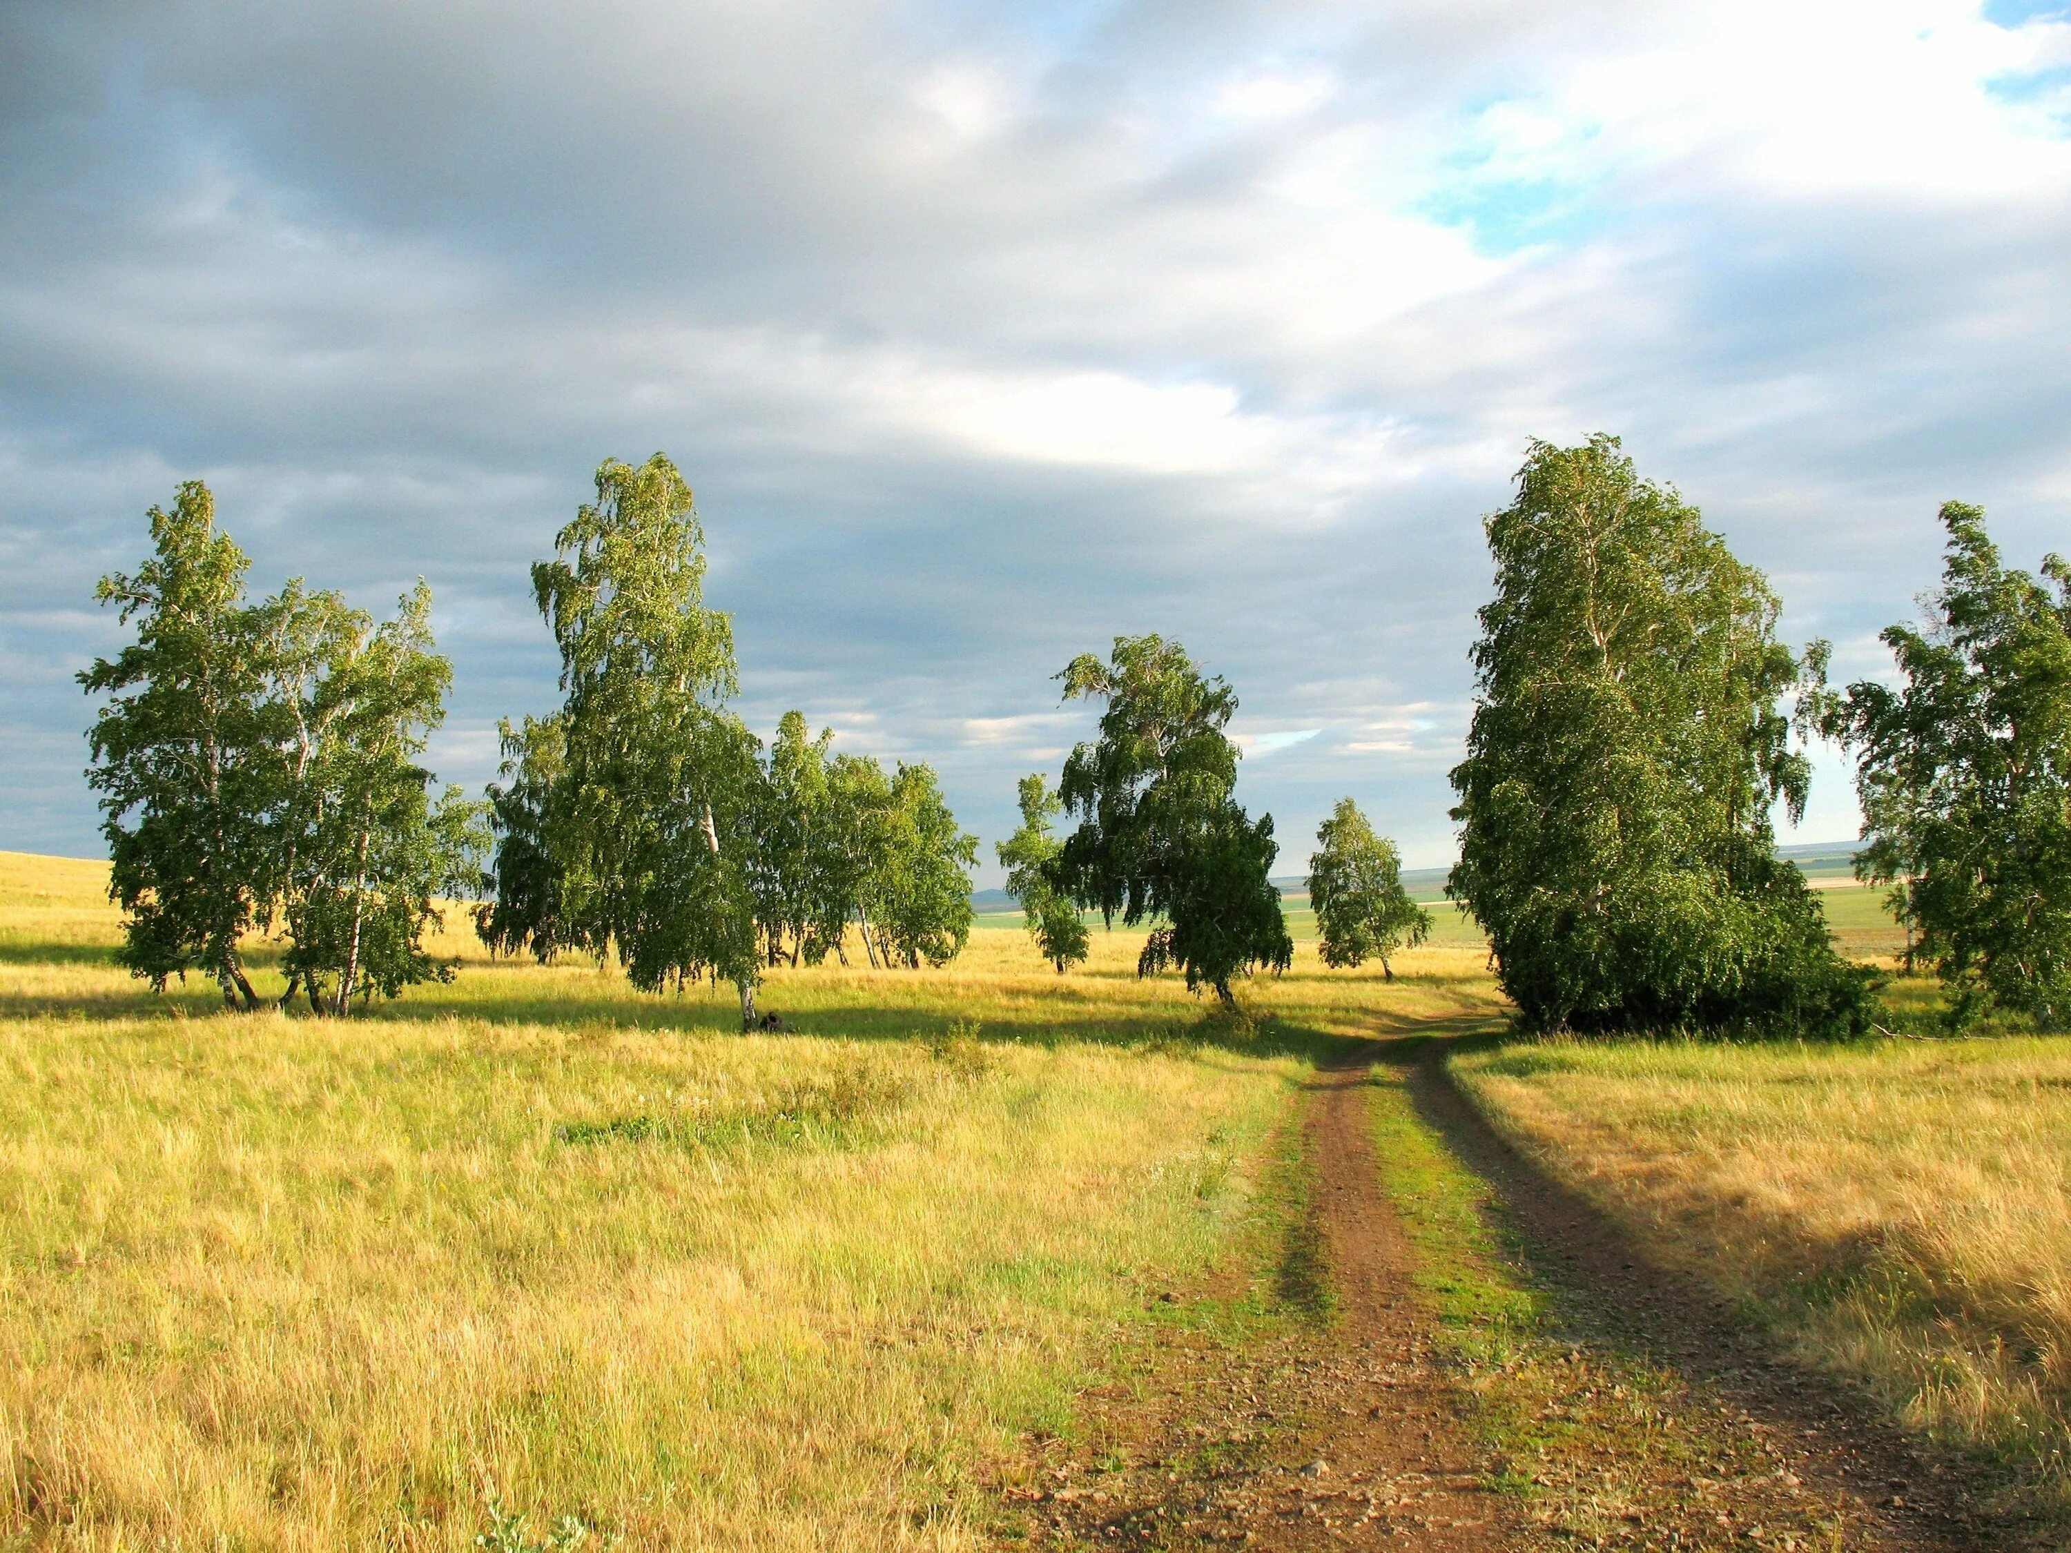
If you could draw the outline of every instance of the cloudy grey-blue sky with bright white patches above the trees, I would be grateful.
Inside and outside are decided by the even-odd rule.
[[[75,673],[205,478],[253,586],[557,704],[528,563],[698,493],[737,708],[1013,826],[1162,632],[1301,872],[1454,853],[1481,520],[1622,435],[1889,671],[1936,507],[2071,549],[2071,10],[1992,0],[6,0],[0,847],[101,855]],[[1856,834],[1818,754],[1806,824]]]

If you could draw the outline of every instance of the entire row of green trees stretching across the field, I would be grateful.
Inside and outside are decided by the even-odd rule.
[[[1448,880],[1524,1025],[1868,1021],[1872,977],[1775,857],[1773,810],[1800,816],[1810,779],[1791,696],[1800,731],[1858,756],[1860,872],[1893,886],[1918,957],[1957,990],[1951,1019],[2063,1021],[2071,567],[2007,567],[1976,507],[1943,524],[1926,629],[1885,632],[1901,683],[1833,690],[1827,644],[1789,652],[1767,580],[1615,439],[1530,449],[1487,520],[1495,596]],[[143,569],[99,586],[135,642],[81,681],[106,696],[89,781],[122,959],[153,986],[197,971],[257,1006],[240,944],[278,930],[284,1002],[350,1013],[449,975],[422,948],[437,901],[487,892],[493,948],[615,955],[642,988],[729,979],[752,1025],[762,969],[845,959],[851,926],[874,965],[940,965],[969,934],[975,839],[928,766],[835,756],[797,712],[764,750],[727,710],[731,623],[704,605],[692,493],[659,453],[601,466],[596,501],[532,569],[563,704],[503,725],[487,803],[435,797],[420,764],[451,681],[422,584],[383,623],[300,580],[253,603],[199,482],[153,507],[151,538]],[[1147,926],[1139,973],[1180,969],[1230,1004],[1238,975],[1292,959],[1272,816],[1234,799],[1234,692],[1158,636],[1058,679],[1102,712],[1054,789],[1021,783],[998,847],[1031,936],[1064,971],[1087,955],[1085,913]],[[1317,843],[1323,959],[1392,975],[1429,928],[1394,845],[1350,799]]]

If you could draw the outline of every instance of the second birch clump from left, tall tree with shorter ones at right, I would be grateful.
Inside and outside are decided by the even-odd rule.
[[[764,752],[727,710],[733,627],[704,572],[690,487],[661,453],[605,462],[532,567],[563,704],[503,725],[483,938],[615,955],[644,990],[733,981],[743,1027],[764,967],[845,959],[851,924],[872,963],[942,965],[971,932],[978,839],[934,770],[830,756],[799,712]]]

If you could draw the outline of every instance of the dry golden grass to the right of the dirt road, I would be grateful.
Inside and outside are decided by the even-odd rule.
[[[1932,986],[1897,992],[1926,1023]],[[1651,1255],[2071,1522],[2071,1039],[1553,1039],[1454,1071]]]

